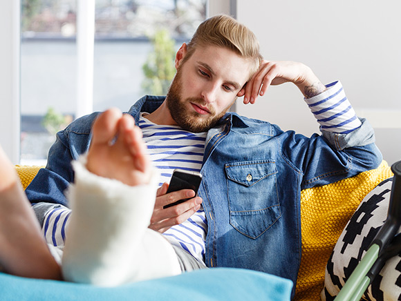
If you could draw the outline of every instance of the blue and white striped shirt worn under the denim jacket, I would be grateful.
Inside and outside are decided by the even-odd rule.
[[[315,97],[305,99],[321,129],[333,133],[351,133],[361,125],[339,81],[326,86],[328,89]],[[140,117],[144,141],[154,166],[161,174],[161,186],[169,182],[175,168],[201,171],[207,133],[191,133],[178,126],[160,126]],[[46,241],[54,246],[64,246],[65,229],[71,210],[57,206],[46,213],[42,231]],[[182,224],[163,233],[167,240],[194,256],[205,260],[207,220],[201,207]]]

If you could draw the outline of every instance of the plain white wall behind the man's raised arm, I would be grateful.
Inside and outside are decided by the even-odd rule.
[[[324,84],[340,79],[358,115],[375,128],[389,164],[401,159],[401,2],[237,0],[237,19],[251,28],[266,59],[301,61]],[[310,135],[318,130],[291,84],[272,87],[236,111]]]

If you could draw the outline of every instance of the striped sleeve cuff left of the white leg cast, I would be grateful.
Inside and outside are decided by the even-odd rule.
[[[46,213],[42,232],[48,244],[58,247],[64,246],[70,214],[71,209],[64,206],[58,206]]]

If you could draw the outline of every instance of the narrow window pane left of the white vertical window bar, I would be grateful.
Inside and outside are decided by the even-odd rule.
[[[21,6],[21,164],[42,165],[55,132],[75,112],[76,1]]]

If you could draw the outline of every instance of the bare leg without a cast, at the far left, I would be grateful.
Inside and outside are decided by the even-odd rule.
[[[7,273],[60,279],[12,163],[0,148],[0,265]]]

